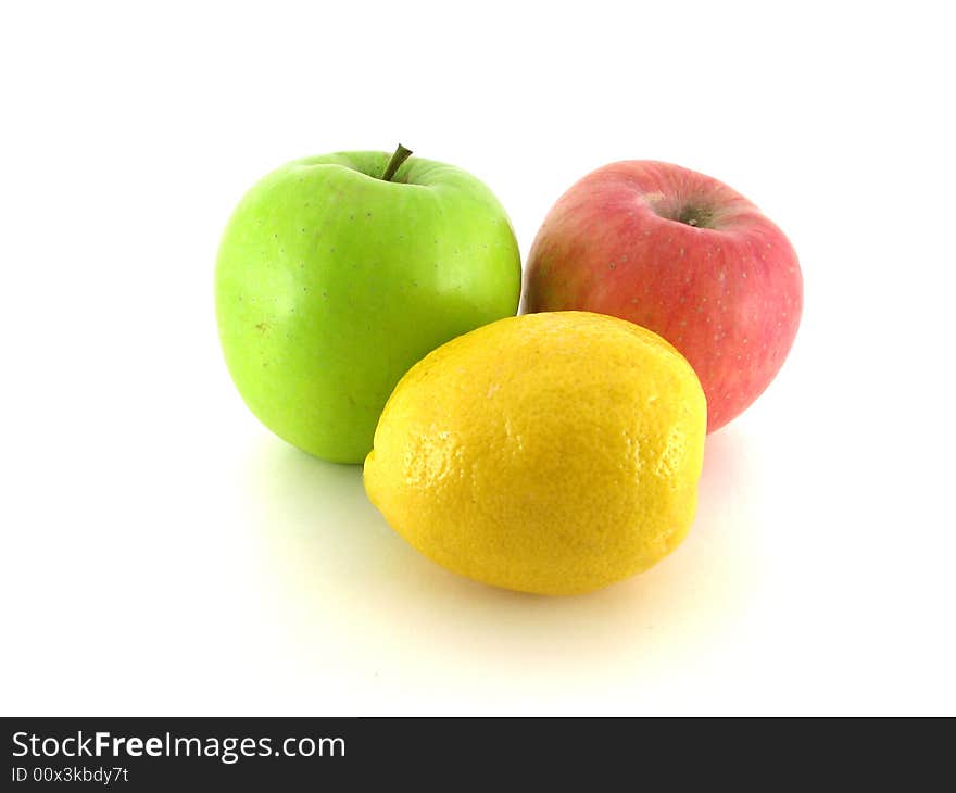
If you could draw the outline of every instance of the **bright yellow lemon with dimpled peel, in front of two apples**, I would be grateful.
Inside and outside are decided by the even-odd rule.
[[[365,490],[395,531],[454,572],[587,592],[684,538],[706,423],[696,375],[656,333],[589,312],[510,317],[402,378]]]

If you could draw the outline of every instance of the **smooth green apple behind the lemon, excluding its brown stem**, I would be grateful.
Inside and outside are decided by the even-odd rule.
[[[349,152],[291,162],[234,212],[216,318],[242,399],[310,454],[360,463],[417,361],[514,316],[521,268],[504,209],[460,168]]]

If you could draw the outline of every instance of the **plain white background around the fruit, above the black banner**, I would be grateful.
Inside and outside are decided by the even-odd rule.
[[[956,713],[943,9],[4,3],[0,712]],[[458,579],[360,467],[242,405],[212,301],[232,206],[400,140],[482,178],[525,255],[573,181],[642,158],[796,247],[793,353],[652,571]]]

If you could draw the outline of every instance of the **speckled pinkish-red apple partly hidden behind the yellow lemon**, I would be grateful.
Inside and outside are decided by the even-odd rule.
[[[662,162],[612,163],[575,184],[525,273],[527,313],[612,314],[680,350],[707,395],[708,432],[770,385],[802,309],[803,276],[783,232],[720,181]]]

